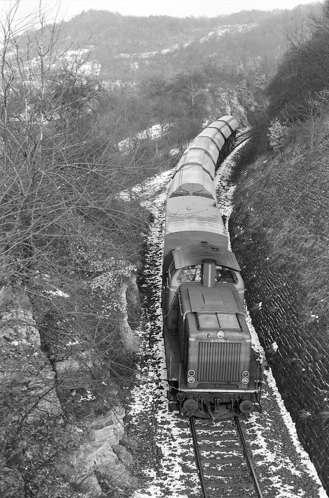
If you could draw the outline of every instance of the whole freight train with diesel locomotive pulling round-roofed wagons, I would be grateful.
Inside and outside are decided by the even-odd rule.
[[[239,122],[223,116],[192,140],[165,206],[162,311],[168,409],[220,421],[261,412],[262,368],[251,348],[245,286],[213,183]]]

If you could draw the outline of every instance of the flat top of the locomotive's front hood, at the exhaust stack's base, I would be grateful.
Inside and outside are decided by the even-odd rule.
[[[239,294],[234,285],[222,284],[204,287],[202,284],[179,286],[183,313],[244,313]]]

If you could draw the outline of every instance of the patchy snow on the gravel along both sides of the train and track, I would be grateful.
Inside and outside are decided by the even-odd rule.
[[[218,202],[223,215],[232,212],[230,182],[235,150],[221,165],[216,176]],[[146,320],[139,331],[144,360],[140,364],[140,385],[136,386],[130,407],[131,427],[144,445],[146,462],[143,489],[133,498],[192,498],[200,496],[193,463],[188,423],[167,413],[165,351],[162,339],[161,269],[164,239],[165,198],[172,171],[149,179],[143,186],[145,205],[155,221],[148,236],[144,299]],[[140,192],[140,195],[142,193]],[[255,355],[261,361],[264,351],[248,315]],[[298,440],[295,425],[278,392],[271,369],[264,371],[263,413],[242,422],[254,457],[264,498],[328,498],[315,468]]]

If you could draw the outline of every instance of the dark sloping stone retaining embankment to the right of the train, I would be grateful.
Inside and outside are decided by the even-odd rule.
[[[243,267],[247,306],[268,363],[296,423],[300,441],[329,491],[328,284],[320,282],[323,289],[318,300],[325,302],[317,306],[314,292],[312,299],[308,298],[301,272],[305,264],[306,269],[310,266],[314,273],[318,270],[317,274],[327,275],[327,256],[318,257],[321,246],[317,246],[329,233],[327,173],[326,169],[315,173],[298,171],[296,165],[287,171],[287,165],[279,163],[271,172],[265,171],[265,167],[259,163],[240,175],[230,220],[232,250]],[[295,237],[291,242],[288,235],[286,252],[279,241],[280,259],[276,248],[279,227],[285,230],[285,218],[291,213],[294,217],[289,220],[287,233],[290,229],[294,232],[298,219],[300,233],[304,231],[306,236],[300,241]],[[307,250],[306,243],[310,246]],[[291,250],[294,244],[296,249]],[[305,262],[301,261],[303,257]],[[310,279],[311,273],[310,270]],[[305,307],[308,302],[310,308]],[[313,313],[312,306],[320,309],[321,314]]]

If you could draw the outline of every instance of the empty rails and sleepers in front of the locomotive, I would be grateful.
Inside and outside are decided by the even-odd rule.
[[[189,421],[203,497],[262,498],[238,418]]]

